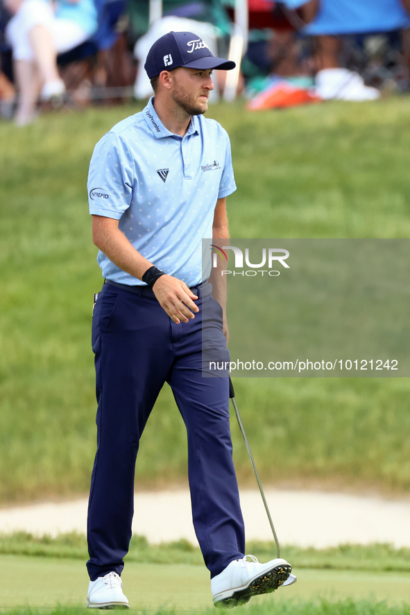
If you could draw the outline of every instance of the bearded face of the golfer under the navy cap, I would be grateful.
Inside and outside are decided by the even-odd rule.
[[[189,115],[200,115],[208,108],[208,98],[214,89],[212,70],[185,69],[172,71],[171,97]]]

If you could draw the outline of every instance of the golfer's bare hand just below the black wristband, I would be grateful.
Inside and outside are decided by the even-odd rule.
[[[189,322],[198,312],[199,308],[194,304],[197,295],[191,293],[187,284],[172,275],[162,275],[153,286],[153,292],[160,306],[172,318],[173,322]]]

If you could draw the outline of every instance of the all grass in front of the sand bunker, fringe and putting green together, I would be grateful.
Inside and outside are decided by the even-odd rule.
[[[250,543],[261,561],[273,544]],[[239,609],[248,615],[409,614],[410,550],[386,545],[339,546],[327,550],[284,546],[298,582],[260,596]],[[83,612],[87,573],[83,535],[35,538],[0,535],[0,612],[74,615]],[[123,583],[133,610],[158,615],[216,613],[209,573],[199,549],[186,541],[150,545],[134,536]],[[55,607],[55,605],[63,605]]]

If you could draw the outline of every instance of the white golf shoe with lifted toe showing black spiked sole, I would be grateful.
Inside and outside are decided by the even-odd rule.
[[[270,594],[287,582],[291,570],[292,566],[286,560],[271,560],[266,564],[259,564],[253,555],[234,560],[211,579],[214,606],[237,607],[247,603],[252,596]],[[291,582],[296,582],[296,577],[293,576]]]

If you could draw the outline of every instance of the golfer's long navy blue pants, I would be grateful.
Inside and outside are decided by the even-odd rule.
[[[244,557],[228,379],[203,377],[201,370],[202,308],[206,302],[207,314],[216,323],[214,341],[224,349],[221,306],[211,295],[205,296],[204,287],[194,320],[175,324],[152,291],[148,293],[151,296],[104,284],[94,309],[92,346],[99,405],[87,521],[91,580],[123,570],[131,538],[139,439],[165,382],[187,427],[192,515],[211,577]]]

